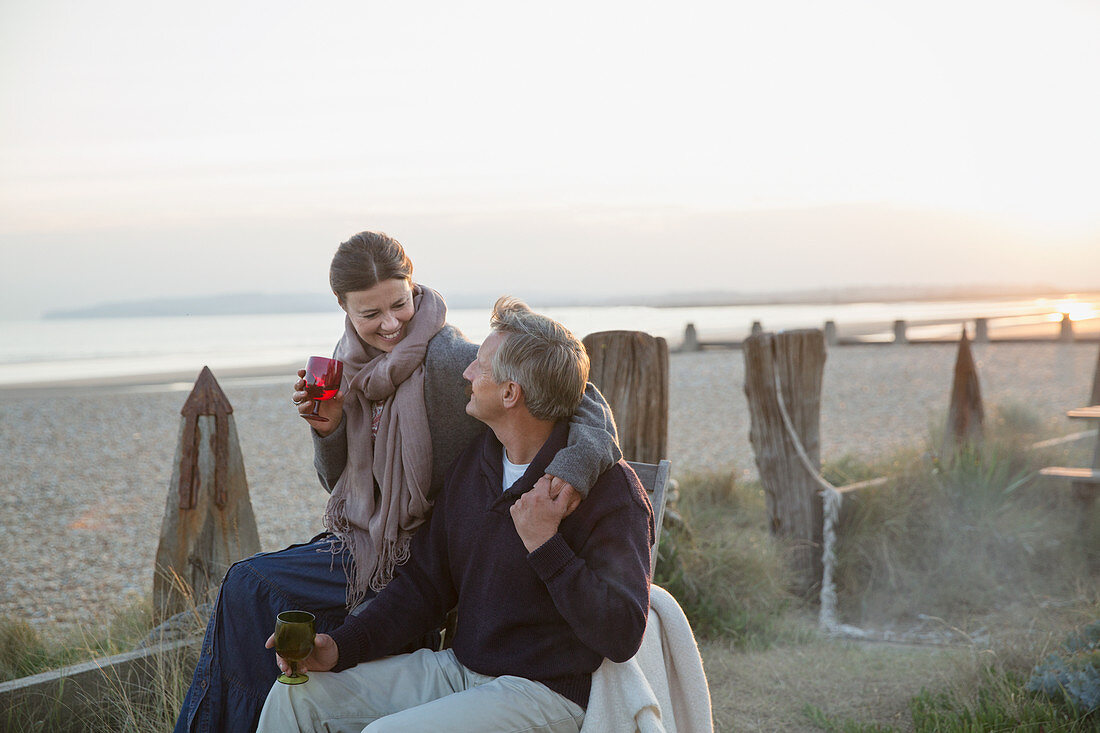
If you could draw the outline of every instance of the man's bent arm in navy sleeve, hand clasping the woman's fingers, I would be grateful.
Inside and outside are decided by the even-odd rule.
[[[551,499],[548,483],[541,479],[512,507],[527,561],[578,638],[601,656],[626,661],[641,645],[649,614],[652,515],[626,502],[601,517],[574,550],[558,532],[568,496]]]

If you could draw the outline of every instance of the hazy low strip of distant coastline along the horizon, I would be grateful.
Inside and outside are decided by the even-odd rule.
[[[535,307],[648,306],[658,308],[737,306],[737,305],[835,305],[866,302],[977,300],[997,298],[1065,298],[1074,291],[1047,285],[1008,286],[866,286],[814,288],[772,293],[738,293],[728,291],[695,291],[619,295],[603,298],[591,296],[562,297],[532,294],[527,299]],[[1076,293],[1100,293],[1100,286]],[[447,296],[452,308],[488,307],[495,295],[458,294]],[[45,320],[73,318],[133,318],[173,316],[251,316],[288,313],[332,313],[336,303],[331,293],[232,293],[211,296],[147,298],[100,303],[85,308],[50,310]]]

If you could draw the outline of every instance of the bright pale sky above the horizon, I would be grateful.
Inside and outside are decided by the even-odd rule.
[[[3,0],[0,318],[323,293],[1100,289],[1093,0]]]

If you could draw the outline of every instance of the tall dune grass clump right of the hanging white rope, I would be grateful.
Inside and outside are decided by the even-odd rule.
[[[1021,601],[1076,598],[1094,578],[1100,515],[1042,466],[1086,464],[1087,446],[1028,450],[1018,411],[993,420],[979,446],[946,459],[894,458],[893,478],[853,492],[837,527],[842,615],[853,624],[917,614],[963,627]],[[884,471],[886,472],[886,471]]]

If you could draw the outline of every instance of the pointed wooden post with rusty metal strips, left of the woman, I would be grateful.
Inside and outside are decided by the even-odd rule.
[[[156,623],[211,600],[229,566],[260,551],[232,413],[204,366],[180,411],[153,578]]]

